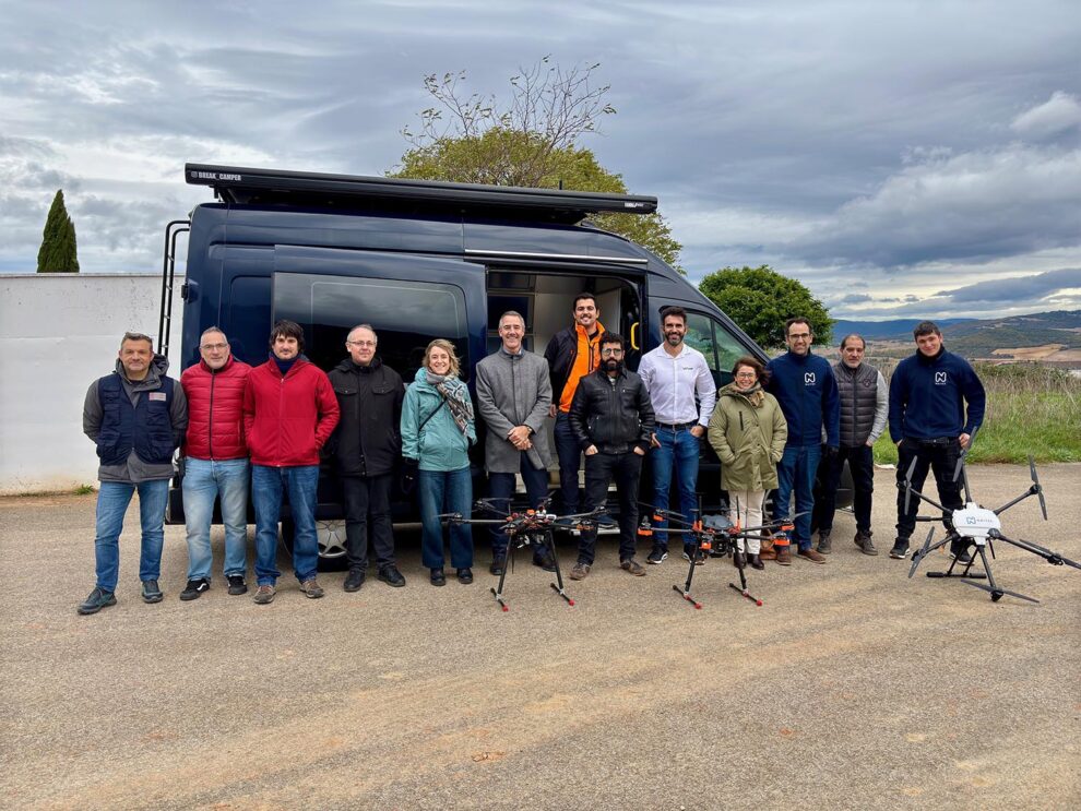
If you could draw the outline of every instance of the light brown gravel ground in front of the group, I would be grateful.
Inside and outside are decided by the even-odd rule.
[[[133,509],[118,605],[79,617],[94,497],[0,499],[0,806],[1078,808],[1081,571],[999,545],[996,576],[1038,605],[907,580],[886,554],[892,476],[876,478],[878,557],[841,514],[827,565],[750,573],[761,608],[709,561],[700,611],[672,591],[681,560],[630,577],[609,538],[569,584],[575,606],[520,563],[503,613],[479,533],[471,586],[431,587],[407,536],[405,588],[346,594],[328,574],[308,600],[289,574],[256,606],[217,574],[181,603],[180,527],[146,606]],[[1029,484],[970,476],[991,506]],[[1081,466],[1041,478],[1050,521],[1033,499],[1003,530],[1081,560]],[[222,546],[217,527],[215,568]]]

